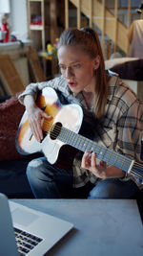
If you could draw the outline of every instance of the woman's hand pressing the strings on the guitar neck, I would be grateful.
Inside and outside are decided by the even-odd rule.
[[[104,161],[100,161],[99,164],[96,164],[96,155],[94,152],[86,151],[84,153],[81,161],[81,167],[88,169],[97,177],[107,177],[107,164]]]

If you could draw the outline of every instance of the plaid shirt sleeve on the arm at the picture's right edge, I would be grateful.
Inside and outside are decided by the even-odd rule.
[[[121,116],[118,121],[117,151],[143,163],[141,160],[141,141],[143,138],[143,105],[134,101],[133,105]],[[125,175],[127,180],[131,175]]]

